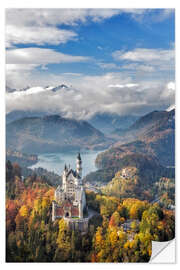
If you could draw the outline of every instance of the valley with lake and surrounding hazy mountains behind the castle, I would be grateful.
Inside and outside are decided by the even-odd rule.
[[[118,127],[122,121],[117,115],[107,114],[97,115],[93,121],[98,124],[101,119],[104,119],[99,125],[101,130],[106,130],[110,123]],[[125,119],[132,121],[133,117],[123,117],[123,121]],[[7,123],[7,147],[38,154],[36,164],[26,165],[59,175],[64,163],[71,163],[77,151],[81,151],[85,160],[84,181],[94,188],[106,185],[118,171],[129,166],[138,170],[146,188],[158,177],[174,177],[175,110],[135,117],[134,123],[126,127],[121,126],[120,131],[116,128],[112,139],[110,134],[106,136],[87,121],[60,115],[31,117],[27,114],[25,118]],[[24,166],[22,160],[20,164]]]

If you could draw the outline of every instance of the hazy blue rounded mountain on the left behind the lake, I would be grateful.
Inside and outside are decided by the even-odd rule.
[[[60,115],[25,117],[6,126],[7,149],[48,153],[80,149],[106,149],[113,143],[86,121]]]

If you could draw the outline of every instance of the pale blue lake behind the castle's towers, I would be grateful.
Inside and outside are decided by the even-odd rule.
[[[102,151],[83,151],[81,152],[82,159],[82,176],[84,177],[92,171],[96,171],[95,159],[97,155]],[[71,166],[72,169],[76,169],[76,157],[77,152],[61,152],[61,153],[48,153],[38,155],[38,162],[29,168],[44,168],[48,171],[53,171],[59,175],[64,170],[64,165]]]

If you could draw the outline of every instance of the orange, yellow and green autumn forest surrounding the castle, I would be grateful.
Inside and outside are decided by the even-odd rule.
[[[97,213],[88,232],[71,231],[63,219],[51,220],[54,187],[41,177],[22,181],[18,164],[6,166],[7,262],[148,262],[152,240],[174,238],[174,211],[93,192],[86,192]]]

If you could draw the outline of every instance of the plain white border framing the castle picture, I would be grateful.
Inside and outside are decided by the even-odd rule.
[[[0,159],[0,262],[1,269],[8,269],[8,268],[27,268],[31,269],[33,268],[40,268],[43,267],[44,269],[49,269],[51,265],[49,263],[4,263],[5,262],[5,95],[4,95],[4,89],[5,89],[5,53],[4,53],[4,15],[5,15],[5,8],[176,8],[176,59],[179,59],[178,55],[178,48],[180,46],[179,43],[179,35],[178,35],[178,26],[179,26],[179,20],[180,20],[180,12],[178,7],[178,2],[176,0],[151,0],[151,1],[145,1],[145,0],[136,0],[136,1],[117,1],[117,0],[111,0],[111,1],[97,1],[97,0],[91,0],[91,1],[83,1],[83,0],[66,0],[66,1],[59,1],[59,0],[51,0],[51,1],[45,1],[45,0],[6,0],[1,1],[0,4],[0,149],[1,149],[1,159]],[[178,30],[177,30],[178,29]],[[179,30],[180,31],[180,30]],[[177,119],[179,119],[179,109],[178,109],[178,102],[179,102],[179,89],[178,89],[178,78],[180,77],[179,71],[179,61],[176,63],[176,149],[180,149],[180,143],[178,138],[179,136],[179,124]],[[176,164],[178,167],[178,151],[176,153]],[[180,166],[179,166],[180,167]],[[176,207],[179,205],[178,200],[178,189],[179,189],[179,168],[176,170]],[[176,228],[179,226],[179,209],[176,211]],[[180,230],[180,229],[179,229]],[[176,230],[176,249],[178,249],[178,243],[179,243],[179,233]],[[176,250],[176,254],[178,254],[178,251]],[[144,268],[144,267],[153,267],[155,269],[159,269],[160,267],[163,267],[163,269],[169,269],[171,268],[177,268],[179,264],[178,257],[176,256],[177,264],[163,264],[163,265],[152,265],[152,264],[71,264],[71,263],[65,263],[65,264],[59,264],[54,263],[52,267],[57,269],[69,269],[69,268],[75,268],[75,269],[82,269],[84,267],[87,268],[96,268],[98,269],[109,269],[109,268],[123,268],[123,269],[131,269],[134,268]]]

